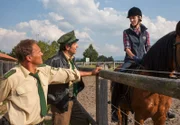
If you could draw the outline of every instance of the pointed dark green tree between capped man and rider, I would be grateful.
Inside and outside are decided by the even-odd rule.
[[[92,44],[83,52],[84,60],[89,58],[91,62],[96,62],[98,58],[98,52],[93,48]]]

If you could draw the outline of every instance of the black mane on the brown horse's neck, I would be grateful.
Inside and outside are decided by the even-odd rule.
[[[142,62],[145,69],[156,71],[173,70],[173,44],[175,36],[175,32],[168,33],[150,48]]]

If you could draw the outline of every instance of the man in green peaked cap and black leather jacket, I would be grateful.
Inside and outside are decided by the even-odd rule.
[[[57,41],[60,44],[59,52],[48,59],[46,64],[57,68],[77,69],[74,63],[74,54],[78,48],[77,41],[74,31],[62,35]],[[95,75],[97,70],[99,67],[91,72],[80,71],[80,75]],[[68,82],[49,86],[48,99],[53,114],[53,125],[89,125],[87,114],[76,99],[77,93],[83,88],[82,80],[74,84]]]

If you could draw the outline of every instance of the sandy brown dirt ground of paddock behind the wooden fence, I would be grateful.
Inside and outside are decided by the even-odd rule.
[[[85,109],[89,112],[89,114],[95,119],[96,118],[96,86],[95,86],[95,77],[85,77],[83,78],[85,82],[85,88],[78,95],[78,100],[85,107]],[[108,85],[109,86],[109,85]],[[109,89],[108,89],[109,90]],[[110,93],[110,91],[108,92]],[[110,97],[110,96],[109,96]],[[110,100],[110,98],[109,98]],[[170,111],[176,114],[176,118],[173,120],[166,120],[166,125],[180,125],[180,100],[173,98],[173,103],[170,108]],[[108,106],[108,123],[109,125],[116,125],[117,123],[111,123],[110,120],[110,105]],[[133,115],[131,114],[129,120],[129,125],[133,125]],[[153,125],[151,119],[147,119],[145,121],[145,125]]]

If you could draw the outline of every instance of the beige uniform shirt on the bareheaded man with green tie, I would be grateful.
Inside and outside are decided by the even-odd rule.
[[[0,82],[0,102],[7,101],[8,112],[5,117],[12,125],[34,125],[44,118],[40,116],[40,100],[37,80],[29,75],[23,66],[13,68],[14,74]],[[44,90],[46,102],[48,84],[67,83],[80,80],[77,70],[38,67],[38,75]]]

